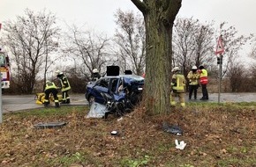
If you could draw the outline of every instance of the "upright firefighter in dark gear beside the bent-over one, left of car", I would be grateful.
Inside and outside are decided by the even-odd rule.
[[[69,80],[68,80],[67,76],[65,76],[64,73],[61,71],[57,70],[56,74],[57,74],[56,77],[59,79],[60,84],[61,84],[61,91],[62,91],[62,102],[61,103],[62,104],[70,104],[71,99],[68,94],[68,91],[70,91],[72,88],[69,83]]]

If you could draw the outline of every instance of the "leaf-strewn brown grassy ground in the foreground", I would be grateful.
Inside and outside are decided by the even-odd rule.
[[[0,166],[255,166],[255,111],[188,106],[147,117],[137,109],[118,120],[86,119],[87,108],[4,114]],[[36,129],[39,122],[68,122]],[[181,127],[181,136],[162,122]],[[111,131],[117,131],[112,135]],[[175,140],[187,143],[176,149]]]

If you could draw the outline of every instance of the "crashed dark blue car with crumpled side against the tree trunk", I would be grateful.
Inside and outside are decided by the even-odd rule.
[[[106,105],[109,113],[122,114],[138,105],[142,98],[144,77],[136,75],[104,76],[87,84],[86,98]]]

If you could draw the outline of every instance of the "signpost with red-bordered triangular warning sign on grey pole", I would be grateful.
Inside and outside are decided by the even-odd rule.
[[[222,88],[222,54],[224,53],[224,47],[222,43],[222,35],[219,37],[217,41],[217,47],[215,54],[217,55],[217,64],[219,64],[219,93],[218,93],[218,104],[221,101],[221,88]],[[219,56],[218,56],[219,54]]]

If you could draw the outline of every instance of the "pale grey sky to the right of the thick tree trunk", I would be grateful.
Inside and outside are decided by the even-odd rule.
[[[238,33],[248,35],[256,34],[255,6],[255,0],[183,0],[179,15],[200,21],[215,20],[217,27],[225,21],[234,25]]]

